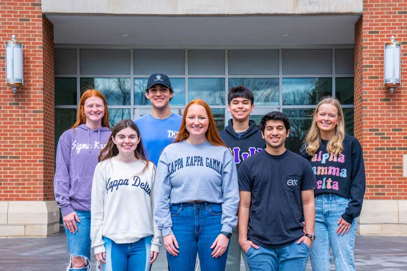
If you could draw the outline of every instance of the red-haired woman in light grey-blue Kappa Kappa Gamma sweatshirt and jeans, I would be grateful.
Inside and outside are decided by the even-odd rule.
[[[231,231],[237,225],[236,165],[219,138],[211,109],[201,99],[186,107],[175,143],[162,152],[154,218],[170,270],[224,270]]]

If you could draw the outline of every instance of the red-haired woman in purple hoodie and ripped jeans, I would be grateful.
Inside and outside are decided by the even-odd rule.
[[[68,239],[68,270],[90,268],[92,178],[110,132],[105,97],[98,90],[86,90],[75,124],[62,134],[56,148],[54,191]]]

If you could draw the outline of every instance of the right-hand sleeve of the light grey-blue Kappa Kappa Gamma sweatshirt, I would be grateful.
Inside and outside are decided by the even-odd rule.
[[[230,156],[230,157],[229,157]],[[222,177],[222,231],[232,232],[238,225],[239,185],[236,164],[231,154],[226,153],[227,162],[224,165]]]

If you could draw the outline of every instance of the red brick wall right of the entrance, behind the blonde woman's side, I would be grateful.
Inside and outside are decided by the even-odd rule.
[[[383,86],[384,43],[394,36],[407,44],[407,2],[365,0],[355,25],[355,135],[366,166],[366,199],[407,199],[402,155],[407,154],[407,88],[393,94]],[[407,47],[401,81],[407,82]]]

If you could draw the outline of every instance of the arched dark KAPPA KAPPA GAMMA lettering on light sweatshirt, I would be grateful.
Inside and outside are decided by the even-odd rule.
[[[202,157],[202,156],[187,156],[173,160],[167,164],[168,173],[171,175],[180,170],[184,166],[205,166],[212,168],[212,170],[223,176],[223,163],[215,158]]]

